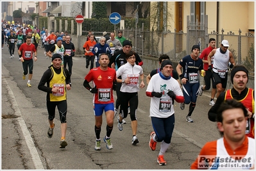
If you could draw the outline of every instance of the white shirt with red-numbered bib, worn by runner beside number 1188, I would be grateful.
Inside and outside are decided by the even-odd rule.
[[[139,77],[143,74],[141,66],[134,64],[133,66],[127,62],[116,71],[117,77],[121,76],[122,79],[130,77],[130,84],[122,83],[120,92],[135,93],[139,92]]]

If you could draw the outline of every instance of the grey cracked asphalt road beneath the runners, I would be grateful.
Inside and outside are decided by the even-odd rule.
[[[150,97],[146,87],[139,92],[137,113],[139,143],[132,145],[131,121],[123,131],[117,128],[115,118],[111,138],[114,149],[108,150],[103,142],[105,117],[101,127],[101,151],[94,150],[94,115],[92,94],[83,87],[85,58],[73,58],[72,88],[67,92],[67,147],[59,149],[60,120],[56,110],[53,138],[47,138],[46,93],[37,85],[51,61],[38,48],[38,61],[34,63],[32,87],[27,87],[22,79],[22,64],[15,58],[9,59],[6,46],[2,54],[2,165],[1,169],[189,169],[201,147],[208,141],[219,138],[216,123],[210,122],[210,92],[198,97],[192,114],[194,123],[185,121],[189,105],[180,110],[175,102],[175,131],[171,145],[165,154],[166,166],[159,166],[156,151],[148,147],[149,133],[152,131],[149,118]],[[146,79],[146,77],[145,77]],[[146,83],[146,80],[145,80]],[[115,94],[115,93],[114,93]]]

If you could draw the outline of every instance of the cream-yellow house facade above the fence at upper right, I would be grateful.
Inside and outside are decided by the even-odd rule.
[[[165,31],[187,31],[187,16],[190,22],[205,22],[208,15],[208,32],[221,33],[254,33],[255,30],[255,2],[254,1],[166,1],[151,2],[151,16],[157,15],[159,24]],[[162,12],[155,10],[156,6]],[[160,6],[160,7],[159,7]],[[158,13],[157,13],[158,12]],[[151,24],[153,24],[151,22]]]

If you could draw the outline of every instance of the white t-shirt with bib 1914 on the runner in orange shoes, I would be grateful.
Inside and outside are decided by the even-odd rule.
[[[162,97],[151,97],[150,117],[167,118],[175,113],[173,101],[167,92],[173,90],[175,95],[183,96],[182,89],[176,79],[162,79],[157,73],[151,77],[146,92],[162,92]]]

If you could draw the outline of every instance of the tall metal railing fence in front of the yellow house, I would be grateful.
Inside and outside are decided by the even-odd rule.
[[[238,64],[244,64],[246,56],[253,58],[254,55],[249,56],[248,52],[251,47],[255,47],[255,37],[252,33],[239,34],[226,32],[224,29],[221,33],[207,33],[207,25],[193,25],[195,23],[189,23],[187,33],[176,33],[176,30],[164,32],[156,31],[144,31],[142,29],[137,30],[123,30],[123,36],[133,42],[133,49],[140,55],[153,56],[158,58],[160,54],[167,54],[171,60],[179,61],[185,55],[191,53],[191,47],[194,44],[198,44],[201,47],[201,51],[208,47],[209,38],[216,39],[216,47],[220,47],[222,40],[228,40],[230,47],[228,49],[232,52],[235,58],[235,62]],[[137,37],[137,38],[135,38]],[[254,53],[253,53],[254,54]],[[254,64],[252,64],[254,65]],[[254,70],[252,70],[254,72]]]

